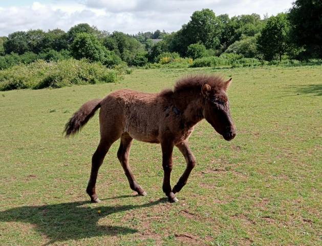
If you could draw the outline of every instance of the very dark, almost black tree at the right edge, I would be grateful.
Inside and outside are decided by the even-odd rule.
[[[322,58],[322,1],[296,0],[290,9],[292,39],[309,57]]]

